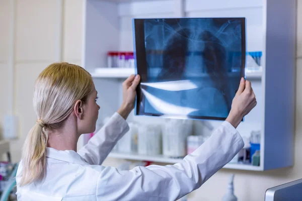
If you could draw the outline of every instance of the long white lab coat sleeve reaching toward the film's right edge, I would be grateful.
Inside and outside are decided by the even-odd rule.
[[[106,167],[98,179],[98,200],[177,200],[199,188],[243,147],[237,130],[223,122],[180,163],[135,167],[130,171]]]

